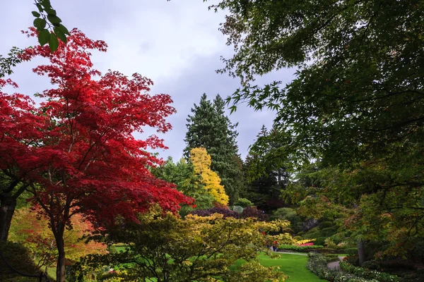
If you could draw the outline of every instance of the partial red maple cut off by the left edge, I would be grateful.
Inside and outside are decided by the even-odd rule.
[[[0,90],[5,85],[17,87],[0,79]],[[45,121],[28,96],[0,91],[0,241],[7,240],[16,200],[38,167],[37,141]]]

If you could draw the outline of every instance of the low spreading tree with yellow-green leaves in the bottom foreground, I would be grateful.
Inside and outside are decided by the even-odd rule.
[[[125,243],[124,252],[90,255],[86,266],[126,265],[125,281],[284,281],[278,268],[266,268],[257,261],[267,240],[263,231],[278,231],[286,221],[266,223],[254,219],[223,219],[222,214],[179,219],[160,210],[141,215],[139,223],[125,224],[95,236],[102,242]],[[105,235],[107,233],[107,235]],[[246,263],[235,266],[238,259]],[[82,275],[81,275],[82,276]],[[219,278],[219,279],[218,279]]]

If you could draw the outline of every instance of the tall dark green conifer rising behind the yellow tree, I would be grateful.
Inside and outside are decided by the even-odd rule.
[[[242,167],[235,140],[237,124],[231,123],[224,110],[225,102],[219,95],[211,102],[203,94],[199,105],[194,104],[193,114],[187,118],[184,157],[188,160],[193,148],[204,147],[211,154],[211,168],[221,178],[232,204],[242,188]]]

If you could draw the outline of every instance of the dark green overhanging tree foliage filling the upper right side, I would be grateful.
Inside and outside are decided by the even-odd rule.
[[[261,157],[293,168],[319,161],[326,183],[313,193],[353,209],[346,225],[358,242],[384,241],[385,255],[405,255],[424,237],[423,1],[223,0],[213,8],[229,12],[220,30],[235,47],[222,72],[245,84],[228,100],[232,109],[245,101],[276,111],[282,149]],[[298,68],[287,85],[252,85],[284,67]]]

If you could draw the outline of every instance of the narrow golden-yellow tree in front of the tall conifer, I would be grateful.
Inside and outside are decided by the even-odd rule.
[[[201,176],[205,189],[218,204],[227,205],[229,199],[228,195],[225,194],[224,186],[220,184],[218,174],[211,170],[211,155],[208,154],[205,148],[193,148],[190,156],[194,172]]]

